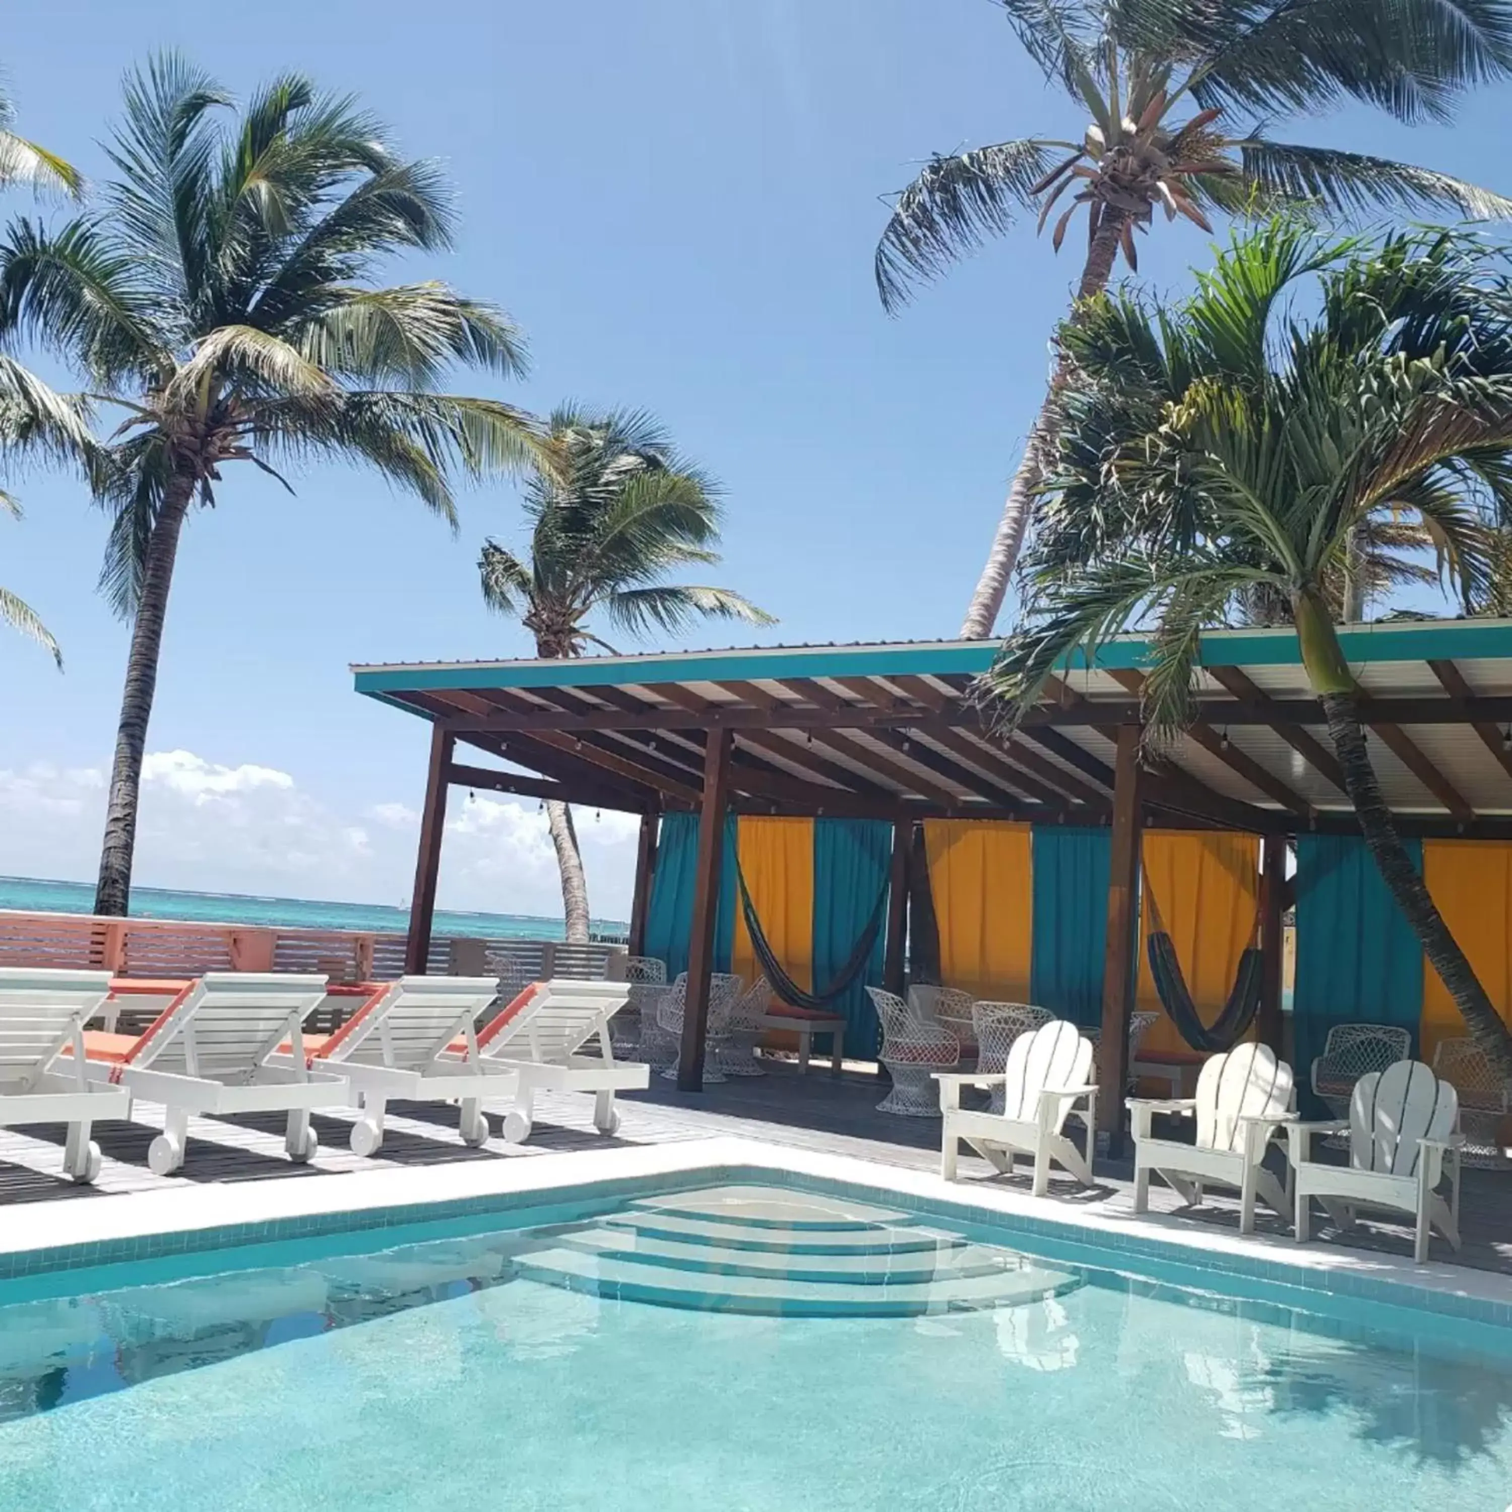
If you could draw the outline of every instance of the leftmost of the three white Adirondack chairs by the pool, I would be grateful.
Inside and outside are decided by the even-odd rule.
[[[940,1175],[956,1179],[960,1142],[992,1161],[998,1170],[1012,1172],[1016,1155],[1034,1161],[1036,1198],[1049,1187],[1054,1161],[1083,1185],[1092,1185],[1092,1140],[1098,1122],[1098,1087],[1092,1075],[1092,1040],[1075,1024],[1052,1019],[1021,1034],[1009,1048],[1001,1072],[942,1074],[940,1113],[945,1140]],[[1002,1089],[1002,1113],[977,1111],[960,1105],[962,1087]],[[1063,1132],[1066,1119],[1081,1119],[1086,1136],[1083,1149]]]

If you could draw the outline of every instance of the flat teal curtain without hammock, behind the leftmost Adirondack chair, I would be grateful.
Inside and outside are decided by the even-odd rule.
[[[1113,832],[1034,826],[1034,957],[1030,996],[1072,1024],[1102,1022]]]

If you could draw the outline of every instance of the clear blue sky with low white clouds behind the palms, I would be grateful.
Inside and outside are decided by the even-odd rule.
[[[1081,130],[989,0],[263,0],[253,26],[234,6],[60,0],[6,26],[21,129],[103,175],[119,76],[156,45],[239,92],[302,70],[440,157],[461,233],[428,272],[503,304],[531,343],[529,380],[499,392],[655,411],[726,485],[721,579],[780,617],[762,638],[956,631],[1075,236],[1055,257],[1025,224],[900,319],[871,254],[880,197],[931,151]],[[1506,103],[1486,89],[1453,129],[1350,110],[1273,135],[1509,192]],[[1207,256],[1196,228],[1157,225],[1142,274],[1175,287]],[[470,493],[454,538],[358,472],[296,487],[243,469],[186,532],[138,878],[392,903],[410,886],[425,730],[357,699],[346,664],[526,652],[473,569],[484,535],[516,532],[517,502],[503,484]],[[0,522],[0,581],[67,670],[0,637],[0,872],[89,878],[125,629],[92,591],[104,526],[80,487],[33,476],[17,493],[27,517]],[[689,644],[736,638],[753,637],[711,626]],[[458,818],[445,904],[558,906],[531,806]],[[627,835],[587,829],[594,907],[612,913]]]

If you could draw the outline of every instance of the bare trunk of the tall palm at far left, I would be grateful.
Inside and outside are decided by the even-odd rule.
[[[125,688],[121,692],[121,718],[115,735],[115,765],[110,770],[100,880],[95,885],[95,913],[121,918],[132,901],[142,753],[147,750],[147,726],[153,717],[153,697],[157,692],[157,658],[163,646],[168,590],[172,587],[178,535],[189,513],[194,488],[192,476],[175,475],[169,481],[157,523],[147,543],[142,593],[132,624],[132,650],[125,661]]]

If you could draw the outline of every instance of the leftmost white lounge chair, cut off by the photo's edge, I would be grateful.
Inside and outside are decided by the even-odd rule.
[[[100,1175],[95,1119],[132,1116],[132,1095],[95,1086],[85,1066],[85,1022],[110,992],[107,971],[0,968],[0,1126],[67,1123],[64,1175]]]

